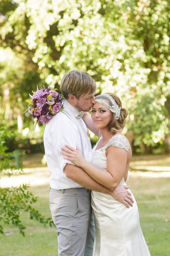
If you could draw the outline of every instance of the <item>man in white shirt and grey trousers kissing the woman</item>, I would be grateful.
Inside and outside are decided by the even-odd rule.
[[[92,256],[94,220],[90,190],[110,194],[128,208],[133,201],[122,185],[110,191],[61,155],[61,148],[67,144],[80,148],[89,160],[91,143],[79,112],[89,111],[95,103],[96,83],[86,72],[73,70],[63,76],[60,88],[66,99],[64,110],[46,124],[44,131],[45,155],[51,173],[49,202],[57,227],[58,256]]]

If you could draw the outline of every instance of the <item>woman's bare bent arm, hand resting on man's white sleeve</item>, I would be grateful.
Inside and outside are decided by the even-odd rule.
[[[126,170],[128,153],[125,149],[113,146],[107,148],[106,172],[87,162],[80,151],[69,146],[67,146],[67,148],[67,150],[64,150],[67,153],[63,153],[63,155],[66,156],[66,159],[84,169],[84,171],[89,174],[93,180],[97,181],[106,188],[109,188],[112,191],[117,188]],[[70,157],[68,157],[69,154]]]

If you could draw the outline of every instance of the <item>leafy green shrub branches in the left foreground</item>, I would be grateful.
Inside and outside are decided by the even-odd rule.
[[[12,133],[7,132],[5,127],[0,128],[0,173],[11,175],[16,174],[18,170],[12,158],[18,152],[6,152],[8,149],[5,146],[5,138],[11,137]],[[37,201],[31,192],[27,190],[29,185],[23,184],[19,188],[1,188],[0,187],[0,233],[4,233],[3,224],[12,224],[19,228],[20,233],[24,236],[24,229],[26,228],[21,220],[21,212],[28,212],[30,219],[36,220],[44,225],[51,226],[51,218],[46,218],[41,215],[39,211],[33,208],[33,204]]]

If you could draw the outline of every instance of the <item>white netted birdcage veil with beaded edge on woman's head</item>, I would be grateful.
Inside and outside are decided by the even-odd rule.
[[[108,108],[112,113],[115,114],[116,120],[120,118],[121,107],[117,105],[116,101],[107,93],[98,95],[95,97],[96,102],[99,102],[106,108]]]

